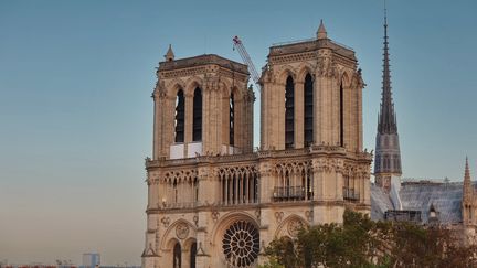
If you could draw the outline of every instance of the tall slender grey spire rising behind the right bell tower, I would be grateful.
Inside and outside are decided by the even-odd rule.
[[[384,58],[381,108],[378,116],[375,140],[374,176],[375,183],[390,191],[391,179],[400,178],[401,150],[398,135],[398,119],[391,92],[391,71],[388,43],[388,19],[384,14]]]

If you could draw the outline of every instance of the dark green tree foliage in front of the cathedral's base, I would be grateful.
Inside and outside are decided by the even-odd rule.
[[[457,243],[451,229],[411,223],[373,222],[347,210],[343,224],[303,228],[265,249],[263,268],[477,267],[475,246]]]

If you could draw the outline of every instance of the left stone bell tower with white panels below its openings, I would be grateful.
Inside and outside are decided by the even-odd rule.
[[[171,46],[165,60],[152,93],[152,158],[252,151],[255,97],[247,66],[218,55],[176,60]]]

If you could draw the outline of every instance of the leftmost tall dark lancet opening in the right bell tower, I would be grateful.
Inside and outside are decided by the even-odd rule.
[[[285,85],[285,148],[293,148],[295,143],[295,84],[288,76]]]

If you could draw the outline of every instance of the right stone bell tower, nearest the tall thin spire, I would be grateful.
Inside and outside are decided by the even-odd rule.
[[[262,75],[262,150],[315,146],[362,150],[362,88],[354,52],[316,39],[269,49]]]

